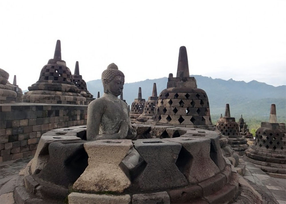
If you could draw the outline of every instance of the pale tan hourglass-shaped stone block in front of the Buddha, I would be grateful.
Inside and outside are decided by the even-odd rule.
[[[88,153],[88,167],[74,183],[73,189],[122,193],[130,186],[130,180],[119,164],[132,147],[132,141],[127,139],[84,143]]]

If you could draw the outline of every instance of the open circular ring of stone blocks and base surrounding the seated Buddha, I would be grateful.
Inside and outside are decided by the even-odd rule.
[[[229,203],[237,197],[238,173],[223,157],[217,132],[134,126],[135,141],[85,141],[86,126],[43,134],[14,191],[16,202]]]

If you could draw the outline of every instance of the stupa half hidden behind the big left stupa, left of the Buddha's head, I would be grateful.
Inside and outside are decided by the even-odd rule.
[[[82,79],[82,75],[80,75],[80,67],[78,65],[78,61],[76,61],[76,67],[74,74],[72,75],[72,81],[74,82],[74,85],[76,85],[81,90],[80,94],[86,98],[86,105],[94,100],[93,95],[87,90],[86,82]]]

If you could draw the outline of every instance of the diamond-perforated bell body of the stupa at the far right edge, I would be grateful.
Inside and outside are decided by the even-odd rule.
[[[260,127],[255,133],[255,142],[253,147],[269,151],[286,151],[285,133],[280,130],[271,130]]]

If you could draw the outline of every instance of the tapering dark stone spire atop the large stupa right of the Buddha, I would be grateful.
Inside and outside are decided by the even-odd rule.
[[[188,55],[187,55],[187,49],[185,46],[180,47],[177,77],[190,77]]]

